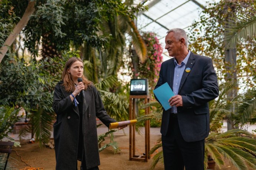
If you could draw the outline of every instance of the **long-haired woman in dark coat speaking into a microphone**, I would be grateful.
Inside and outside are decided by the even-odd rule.
[[[61,78],[53,97],[56,170],[76,170],[77,160],[82,161],[83,170],[99,170],[96,117],[107,127],[116,121],[107,115],[93,83],[83,76],[81,59],[70,58]]]

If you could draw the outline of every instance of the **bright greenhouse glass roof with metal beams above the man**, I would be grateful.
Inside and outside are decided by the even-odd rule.
[[[134,0],[134,4],[145,0]],[[145,5],[148,11],[137,15],[137,28],[141,31],[151,31],[158,35],[164,48],[166,32],[172,28],[182,28],[185,31],[193,21],[200,18],[202,11],[217,0],[148,0]],[[168,52],[163,50],[164,60],[169,59]]]

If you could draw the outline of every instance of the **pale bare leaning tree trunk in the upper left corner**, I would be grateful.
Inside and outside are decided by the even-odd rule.
[[[35,11],[35,3],[36,3],[36,1],[32,1],[32,2],[29,1],[29,4],[27,5],[27,8],[26,8],[21,20],[14,27],[13,32],[9,35],[9,37],[4,42],[4,45],[1,47],[0,63],[3,60],[4,56],[6,55],[6,52],[8,51],[8,47],[11,46],[11,44],[13,44],[17,35],[20,34],[20,31],[27,25],[27,22],[29,22],[30,15],[33,14]]]

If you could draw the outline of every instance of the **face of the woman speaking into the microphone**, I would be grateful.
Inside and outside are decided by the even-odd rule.
[[[83,63],[80,61],[74,62],[69,69],[67,69],[67,72],[71,74],[71,78],[73,81],[77,81],[78,78],[82,77],[83,75]]]

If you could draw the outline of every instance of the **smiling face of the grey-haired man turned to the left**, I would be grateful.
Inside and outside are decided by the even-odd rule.
[[[181,54],[181,42],[176,41],[174,32],[169,32],[165,37],[165,49],[168,50],[169,56],[176,57]]]

